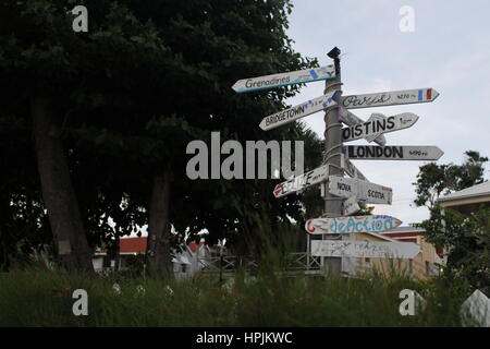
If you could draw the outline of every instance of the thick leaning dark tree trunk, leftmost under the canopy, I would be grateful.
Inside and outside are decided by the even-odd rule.
[[[42,200],[58,248],[68,269],[93,270],[91,253],[70,178],[59,120],[48,111],[48,100],[30,98],[33,131]]]

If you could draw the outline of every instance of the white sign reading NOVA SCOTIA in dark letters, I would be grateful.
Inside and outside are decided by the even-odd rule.
[[[329,177],[329,192],[341,197],[357,196],[368,204],[391,205],[393,191],[391,188],[339,176]]]

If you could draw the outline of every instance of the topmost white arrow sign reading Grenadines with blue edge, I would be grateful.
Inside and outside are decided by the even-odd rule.
[[[319,80],[334,79],[335,69],[327,65],[315,69],[298,70],[295,72],[265,75],[238,80],[232,88],[237,92],[250,92],[257,89],[274,88],[279,86],[310,83]]]

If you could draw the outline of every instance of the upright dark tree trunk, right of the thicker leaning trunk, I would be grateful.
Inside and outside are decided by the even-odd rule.
[[[147,262],[152,276],[172,278],[170,257],[170,183],[172,171],[167,168],[154,177],[148,222]]]

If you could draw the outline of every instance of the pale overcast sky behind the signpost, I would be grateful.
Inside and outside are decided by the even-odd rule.
[[[293,4],[287,31],[293,48],[327,65],[332,62],[327,52],[338,46],[344,95],[422,87],[440,93],[427,104],[352,110],[365,120],[372,112],[420,117],[412,128],[385,134],[387,145],[439,146],[444,155],[438,164],[461,164],[468,149],[490,156],[490,1],[293,0]],[[400,29],[403,5],[414,9],[412,33]],[[323,88],[324,82],[308,84],[289,103],[321,96]],[[322,137],[323,112],[303,120]],[[368,143],[350,142],[354,144]],[[393,204],[377,205],[375,213],[392,215],[403,226],[429,217],[426,208],[413,204],[412,183],[424,164],[354,163],[371,182],[393,189]],[[485,176],[489,178],[489,166]]]

